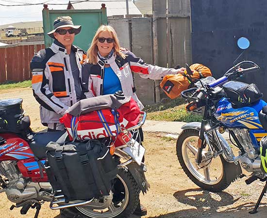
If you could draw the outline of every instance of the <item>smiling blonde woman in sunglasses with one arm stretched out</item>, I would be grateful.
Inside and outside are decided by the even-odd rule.
[[[88,98],[122,91],[124,95],[132,96],[141,110],[144,106],[136,96],[132,72],[142,78],[163,79],[165,75],[184,73],[184,70],[153,66],[130,51],[121,51],[116,31],[102,25],[87,51],[87,62],[82,66],[83,92]],[[139,132],[143,141],[142,130]],[[144,216],[147,210],[139,202],[134,214]]]

